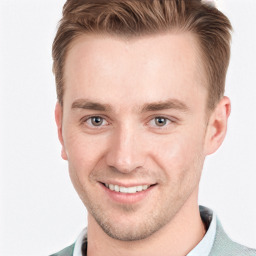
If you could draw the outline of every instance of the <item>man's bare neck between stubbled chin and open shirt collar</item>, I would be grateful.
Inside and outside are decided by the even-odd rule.
[[[88,214],[87,255],[187,255],[205,235],[197,200],[196,203],[193,201],[188,199],[170,223],[139,241],[119,241],[109,237]]]

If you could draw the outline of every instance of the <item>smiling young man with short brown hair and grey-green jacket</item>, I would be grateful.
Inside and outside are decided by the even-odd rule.
[[[230,31],[199,0],[66,2],[55,116],[88,226],[54,255],[256,255],[198,207],[230,114]]]

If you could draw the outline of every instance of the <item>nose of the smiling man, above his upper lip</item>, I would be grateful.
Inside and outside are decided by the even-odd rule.
[[[139,131],[131,125],[118,128],[112,134],[106,155],[107,165],[122,173],[144,166],[145,150]]]

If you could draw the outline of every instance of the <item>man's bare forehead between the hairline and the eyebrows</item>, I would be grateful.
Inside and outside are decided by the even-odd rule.
[[[127,106],[170,97],[189,101],[205,94],[202,66],[189,32],[129,40],[83,35],[67,54],[64,102],[90,97],[113,104],[122,99]]]

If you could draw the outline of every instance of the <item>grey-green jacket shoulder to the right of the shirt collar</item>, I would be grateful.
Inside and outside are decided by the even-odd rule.
[[[256,256],[256,250],[232,241],[217,219],[216,236],[210,256]]]

